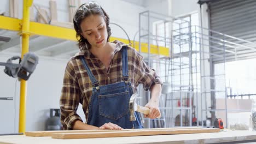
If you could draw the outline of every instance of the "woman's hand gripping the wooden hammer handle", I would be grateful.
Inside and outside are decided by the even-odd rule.
[[[148,117],[148,118],[152,118],[152,119],[161,117],[158,102],[150,100],[148,102],[148,104],[145,105],[145,107],[149,108],[149,114],[144,115],[144,117]]]

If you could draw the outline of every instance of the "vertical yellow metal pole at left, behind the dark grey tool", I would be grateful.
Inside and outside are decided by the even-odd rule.
[[[30,43],[30,7],[33,0],[23,1],[23,18],[22,18],[22,50],[21,58],[28,52],[28,45]],[[20,118],[19,118],[19,133],[24,133],[26,130],[26,94],[27,82],[23,79],[20,81]]]

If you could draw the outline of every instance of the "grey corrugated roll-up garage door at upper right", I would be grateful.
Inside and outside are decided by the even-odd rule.
[[[223,37],[223,35],[211,33],[213,43],[210,45],[222,47],[223,39],[227,50],[226,61],[256,58],[256,0],[219,0],[208,3],[210,13],[210,28],[214,31],[232,35],[244,39]],[[223,51],[211,49],[217,55],[223,55]],[[213,58],[214,63],[221,63],[218,57]]]

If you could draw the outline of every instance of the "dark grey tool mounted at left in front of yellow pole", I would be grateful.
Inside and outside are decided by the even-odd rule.
[[[13,63],[13,60],[19,59],[19,64]],[[28,52],[21,60],[19,56],[13,56],[6,63],[0,62],[0,65],[5,66],[4,73],[11,77],[19,77],[28,80],[38,64],[38,56],[32,52]],[[28,74],[27,74],[28,73]]]

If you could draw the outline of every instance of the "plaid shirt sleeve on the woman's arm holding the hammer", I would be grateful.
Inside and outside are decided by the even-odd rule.
[[[150,87],[152,87],[155,84],[162,85],[162,81],[160,77],[156,74],[155,70],[152,68],[149,68],[149,66],[143,61],[143,57],[138,55],[138,61],[139,61],[139,69],[137,70],[139,73],[139,83],[142,83],[143,88],[145,91],[148,91]]]

